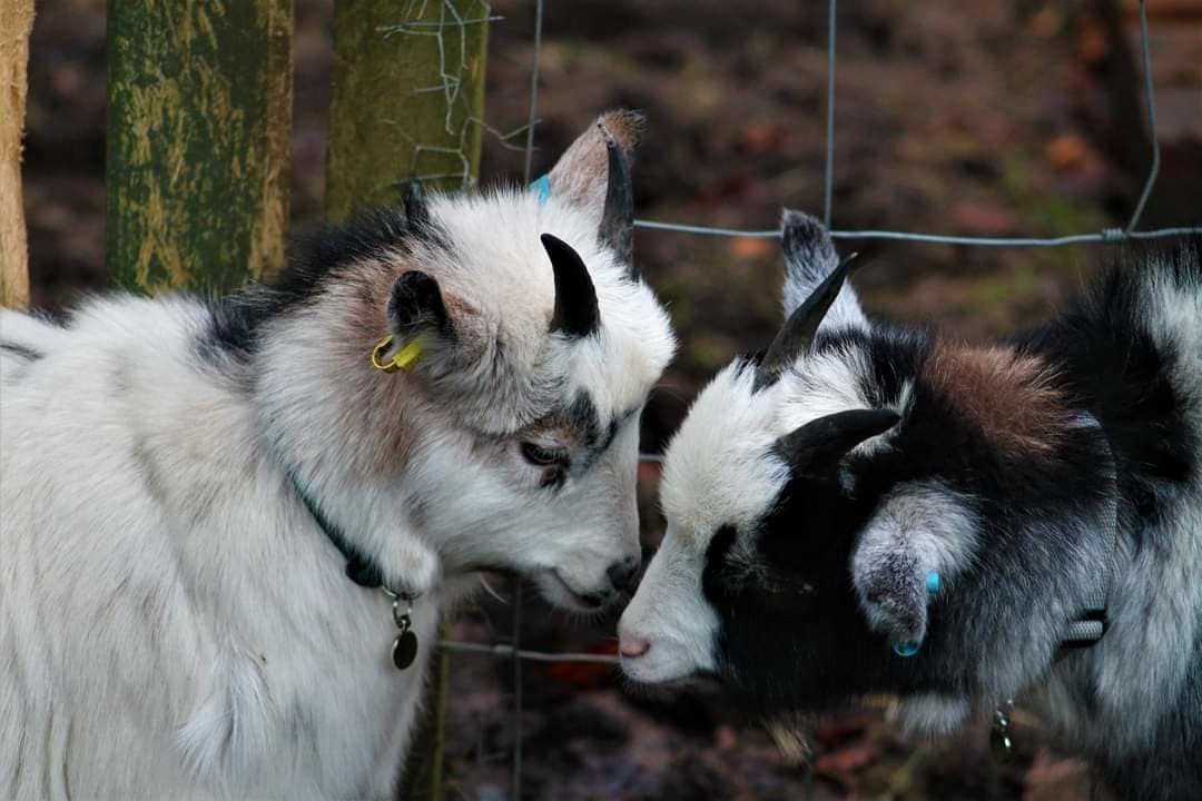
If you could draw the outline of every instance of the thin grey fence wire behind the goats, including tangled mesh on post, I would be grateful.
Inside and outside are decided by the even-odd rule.
[[[459,143],[458,150],[454,148],[434,148],[434,147],[418,147],[415,151],[415,167],[417,157],[421,153],[427,150],[435,150],[441,153],[454,153],[459,156],[464,165],[464,172],[462,174],[453,175],[453,178],[460,178],[465,187],[470,186],[474,181],[470,177],[468,169],[468,157],[466,157],[466,141],[468,131],[470,126],[478,125],[484,128],[488,133],[496,137],[501,144],[510,149],[520,149],[524,151],[524,169],[523,175],[525,183],[530,183],[531,166],[534,161],[535,150],[535,130],[538,122],[537,109],[538,109],[538,77],[542,55],[542,24],[545,16],[545,0],[536,0],[535,2],[535,23],[534,23],[534,64],[531,66],[530,73],[530,104],[526,124],[512,132],[501,133],[496,128],[493,128],[483,120],[469,115],[460,126],[452,127],[452,112],[458,103],[464,102],[463,96],[459,91],[460,79],[466,68],[466,62],[448,62],[446,58],[446,49],[444,47],[444,37],[447,35],[453,35],[457,37],[463,37],[464,29],[468,25],[475,24],[489,24],[501,19],[501,17],[494,16],[488,2],[480,2],[480,13],[471,18],[464,18],[456,12],[454,6],[450,0],[410,0],[409,13],[412,17],[421,17],[424,13],[427,1],[438,1],[442,8],[441,20],[438,23],[398,23],[397,25],[389,26],[387,29],[381,29],[381,34],[386,36],[394,35],[411,35],[411,36],[436,36],[439,40],[439,53],[442,59],[440,62],[440,74],[442,82],[435,86],[421,88],[417,91],[436,91],[444,94],[447,102],[447,133],[456,137]],[[419,6],[419,7],[418,7]],[[838,20],[837,20],[837,0],[828,0],[827,5],[827,96],[826,96],[826,154],[825,154],[825,169],[823,169],[823,181],[822,181],[822,217],[826,226],[831,228],[832,216],[834,213],[833,208],[833,192],[834,192],[834,137],[835,137],[835,36],[838,32]],[[415,13],[416,12],[416,13]],[[970,245],[980,247],[1059,247],[1065,245],[1081,245],[1081,244],[1115,244],[1130,240],[1147,240],[1147,239],[1162,239],[1168,237],[1180,237],[1186,234],[1202,234],[1202,226],[1195,227],[1173,227],[1173,228],[1158,228],[1153,231],[1137,231],[1136,226],[1139,223],[1139,219],[1143,215],[1144,207],[1148,203],[1148,198],[1156,185],[1156,178],[1160,171],[1160,143],[1156,141],[1156,103],[1153,90],[1153,78],[1152,78],[1152,56],[1149,52],[1148,42],[1148,11],[1146,0],[1139,0],[1139,48],[1141,48],[1141,61],[1143,66],[1143,89],[1144,89],[1144,104],[1147,112],[1147,125],[1148,125],[1148,137],[1152,143],[1152,163],[1148,169],[1147,179],[1143,184],[1143,190],[1139,195],[1139,199],[1131,211],[1131,216],[1126,225],[1121,228],[1103,228],[1096,232],[1083,232],[1078,234],[1070,234],[1064,237],[964,237],[957,234],[938,234],[938,233],[911,233],[905,231],[887,231],[887,229],[867,229],[867,231],[855,231],[855,229],[839,229],[831,228],[831,235],[834,239],[881,239],[881,240],[895,240],[895,241],[915,241],[915,243],[928,243],[928,244],[941,244],[941,245]],[[460,38],[462,42],[462,38]],[[464,50],[460,47],[460,54]],[[516,138],[520,133],[525,133],[525,145],[516,147],[510,144],[510,139]],[[416,173],[416,169],[415,169]],[[418,180],[422,179],[441,179],[447,178],[445,174],[439,175],[417,175]],[[636,220],[635,226],[644,228],[648,231],[657,231],[666,233],[678,233],[678,234],[691,234],[691,235],[704,235],[704,237],[750,237],[750,238],[779,238],[779,228],[772,229],[743,229],[743,228],[724,228],[713,227],[703,225],[691,225],[682,222],[668,222],[662,220]],[[660,464],[662,462],[662,456],[659,454],[639,454],[639,459],[644,464]],[[512,754],[512,777],[510,794],[513,801],[519,801],[522,797],[522,741],[523,741],[523,717],[524,717],[524,705],[523,705],[523,676],[522,665],[524,662],[537,662],[537,663],[599,663],[599,664],[617,664],[618,658],[611,654],[599,654],[599,653],[571,653],[571,652],[543,652],[543,651],[531,651],[520,647],[522,639],[522,603],[523,603],[523,590],[520,581],[516,582],[513,586],[513,620],[511,629],[511,641],[510,642],[465,642],[460,640],[442,640],[439,645],[444,652],[458,653],[458,654],[477,654],[493,657],[498,659],[508,659],[513,665],[513,754]],[[809,771],[809,778],[813,779],[813,771]],[[814,787],[813,781],[807,784],[807,796],[813,797]]]

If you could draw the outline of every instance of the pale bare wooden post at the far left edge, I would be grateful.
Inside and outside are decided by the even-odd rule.
[[[20,138],[32,28],[34,0],[0,2],[0,305],[16,309],[29,303]]]

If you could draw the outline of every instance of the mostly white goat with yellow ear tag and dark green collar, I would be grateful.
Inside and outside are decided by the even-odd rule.
[[[480,570],[617,597],[674,349],[630,262],[638,127],[215,304],[0,316],[0,797],[387,799]]]

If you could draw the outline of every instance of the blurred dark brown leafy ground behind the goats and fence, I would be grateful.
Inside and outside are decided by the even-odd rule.
[[[535,5],[496,0],[486,119],[526,121]],[[1121,227],[1150,162],[1137,4],[1120,0],[861,0],[838,24],[833,225],[970,235]],[[1148,4],[1161,172],[1141,227],[1202,219],[1202,0]],[[25,148],[32,305],[63,309],[105,275],[106,8],[40,0]],[[296,0],[292,232],[321,223],[331,98],[331,0]],[[545,18],[535,174],[606,108],[649,125],[635,166],[644,219],[773,228],[780,207],[822,210],[826,4],[573,0]],[[398,88],[398,91],[404,89]],[[524,135],[516,143],[524,142]],[[522,179],[524,155],[486,133],[481,181]],[[1073,297],[1105,246],[987,249],[864,241],[869,313],[951,336],[1005,335]],[[689,399],[780,323],[773,239],[642,229],[636,258],[684,343],[644,420],[659,450]],[[654,466],[641,494],[647,551],[661,532]],[[551,532],[548,532],[551,536]],[[453,635],[508,641],[504,580]],[[583,622],[524,593],[524,647],[612,653],[615,615]],[[512,663],[456,654],[445,746],[448,797],[501,799],[516,725]],[[647,693],[607,665],[528,663],[522,689],[530,799],[1075,799],[1082,765],[1020,716],[1018,758],[995,764],[984,728],[916,742],[887,699],[815,721],[810,770],[704,685]],[[809,795],[807,795],[809,794]]]

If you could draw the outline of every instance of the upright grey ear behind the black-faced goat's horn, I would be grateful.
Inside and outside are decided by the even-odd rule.
[[[807,298],[832,273],[839,268],[839,256],[835,253],[831,232],[817,217],[802,211],[785,209],[780,220],[781,249],[785,255],[785,318],[801,306]],[[868,328],[856,298],[856,291],[844,282],[839,294],[831,304],[820,324],[821,327]]]

